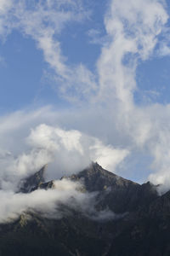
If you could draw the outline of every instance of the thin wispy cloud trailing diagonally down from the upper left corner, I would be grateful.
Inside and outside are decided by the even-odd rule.
[[[0,5],[1,7],[1,5]],[[71,101],[84,100],[96,90],[95,76],[82,63],[71,67],[63,54],[59,34],[71,22],[88,19],[82,1],[9,1],[2,2],[0,36],[5,38],[12,29],[35,40],[44,60],[54,70],[56,87],[62,96]]]

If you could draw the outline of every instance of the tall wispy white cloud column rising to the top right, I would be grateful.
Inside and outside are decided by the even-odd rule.
[[[167,19],[159,1],[111,1],[105,15],[105,29],[111,39],[98,61],[101,100],[121,102],[126,110],[133,108],[138,59],[150,57]],[[126,55],[128,61],[124,63]]]

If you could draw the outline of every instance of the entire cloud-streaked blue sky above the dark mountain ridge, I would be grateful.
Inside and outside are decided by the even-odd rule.
[[[8,152],[18,165],[25,155],[20,166],[26,170],[29,160],[32,169],[46,161],[55,163],[48,144],[67,131],[72,149],[65,152],[63,137],[64,144],[58,145],[62,156],[56,152],[57,144],[54,147],[60,170],[67,172],[63,155],[68,154],[71,171],[81,168],[83,158],[84,166],[98,160],[111,172],[138,182],[166,183],[170,177],[169,8],[164,0],[3,0],[3,161]],[[31,137],[37,131],[42,133],[38,143]],[[41,160],[40,148],[47,153]],[[34,150],[40,151],[32,160]],[[25,175],[26,170],[22,170]]]

